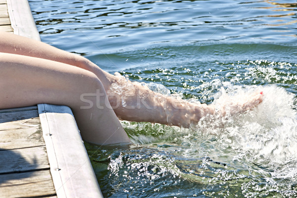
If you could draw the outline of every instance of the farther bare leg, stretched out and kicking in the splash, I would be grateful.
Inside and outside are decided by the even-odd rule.
[[[226,114],[224,106],[215,111],[214,106],[190,103],[154,93],[139,83],[126,81],[103,71],[82,56],[56,49],[45,43],[7,33],[0,33],[0,37],[0,52],[54,60],[93,72],[102,82],[115,114],[121,119],[188,127],[190,123],[197,123],[207,114],[216,112]],[[233,112],[248,110],[261,100],[261,97],[257,97],[251,101],[232,104]]]

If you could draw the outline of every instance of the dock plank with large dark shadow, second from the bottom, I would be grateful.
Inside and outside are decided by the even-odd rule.
[[[1,150],[0,162],[0,174],[49,168],[49,159],[45,146]]]

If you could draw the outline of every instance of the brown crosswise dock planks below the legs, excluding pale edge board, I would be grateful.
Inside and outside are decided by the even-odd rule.
[[[0,197],[56,197],[37,106],[0,110]]]

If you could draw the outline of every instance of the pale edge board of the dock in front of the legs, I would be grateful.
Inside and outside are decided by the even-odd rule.
[[[38,111],[57,196],[102,198],[71,109],[68,106],[38,104]]]

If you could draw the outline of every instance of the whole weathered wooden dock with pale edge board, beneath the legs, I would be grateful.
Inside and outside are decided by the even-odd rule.
[[[0,31],[40,40],[27,0],[0,0]],[[102,198],[71,109],[0,109],[0,198]]]

